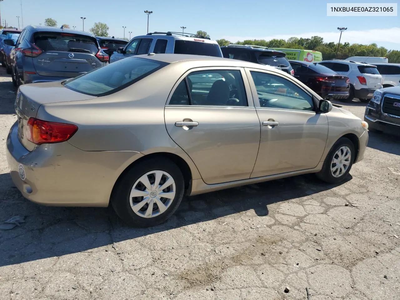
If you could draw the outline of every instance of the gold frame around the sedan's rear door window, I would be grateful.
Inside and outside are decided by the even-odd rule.
[[[238,105],[234,105],[234,106],[228,106],[228,105],[173,105],[170,104],[170,100],[172,98],[172,95],[174,94],[176,88],[178,87],[178,85],[180,84],[180,82],[182,80],[185,80],[186,82],[186,88],[188,89],[188,82],[186,80],[186,77],[188,75],[190,75],[193,72],[200,72],[200,71],[216,71],[216,70],[238,70],[240,71],[240,74],[242,75],[242,80],[243,80],[243,85],[244,85],[244,89],[246,92],[246,98],[247,98],[247,106],[238,106]],[[212,73],[212,72],[209,72]],[[188,89],[189,90],[189,89]],[[191,103],[191,99],[190,99],[190,103]],[[250,82],[248,81],[248,76],[244,70],[244,68],[240,68],[240,67],[226,67],[226,66],[218,66],[218,67],[202,67],[202,68],[190,68],[188,69],[186,72],[184,72],[184,74],[182,76],[180,76],[178,78],[178,80],[176,80],[174,86],[172,87],[172,90],[170,91],[170,94],[168,95],[168,98],[166,100],[166,107],[198,107],[198,108],[204,108],[204,107],[219,107],[219,108],[254,108],[254,101],[253,101],[253,96],[252,96],[252,92],[251,92],[251,87],[250,87]]]

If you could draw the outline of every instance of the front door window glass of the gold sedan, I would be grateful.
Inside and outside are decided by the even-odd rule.
[[[269,73],[251,71],[261,107],[314,110],[312,96],[293,82]]]

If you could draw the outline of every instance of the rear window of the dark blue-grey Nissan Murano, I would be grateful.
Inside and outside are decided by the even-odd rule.
[[[97,40],[90,36],[64,32],[37,32],[34,44],[46,51],[82,52],[96,54]]]

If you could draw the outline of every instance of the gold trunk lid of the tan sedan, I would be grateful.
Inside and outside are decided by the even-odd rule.
[[[61,82],[46,82],[20,86],[15,100],[18,116],[18,137],[24,147],[32,151],[35,144],[26,139],[26,128],[30,117],[36,118],[42,104],[81,101],[96,98],[64,88]]]

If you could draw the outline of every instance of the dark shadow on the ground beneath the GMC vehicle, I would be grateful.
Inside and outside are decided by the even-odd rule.
[[[400,134],[369,131],[368,147],[400,155]]]

